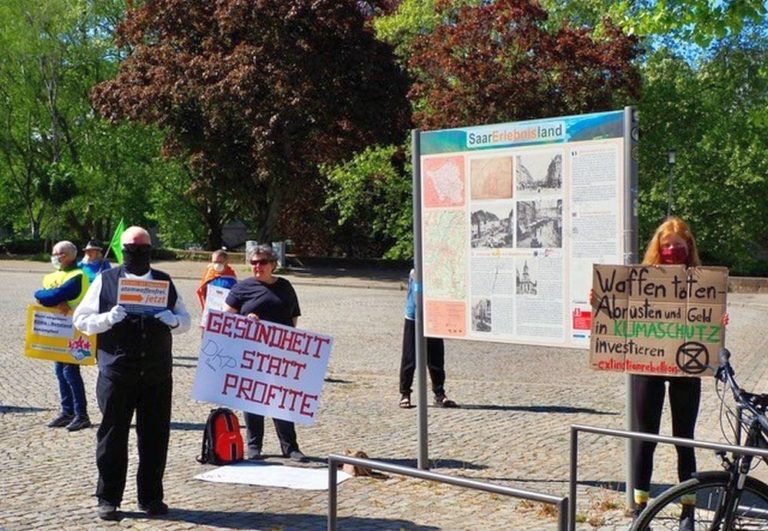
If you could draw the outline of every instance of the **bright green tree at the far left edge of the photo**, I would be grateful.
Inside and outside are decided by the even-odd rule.
[[[68,169],[79,160],[64,64],[76,12],[69,2],[8,1],[0,6],[0,152],[30,235],[37,238],[51,203],[75,193]]]

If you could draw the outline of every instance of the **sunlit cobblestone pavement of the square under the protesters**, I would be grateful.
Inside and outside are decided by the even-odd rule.
[[[202,264],[156,264],[176,279],[193,319],[194,289]],[[57,411],[49,362],[22,355],[25,306],[49,266],[0,261],[0,528],[17,529],[262,529],[326,527],[327,492],[207,483],[193,479],[199,465],[203,423],[211,408],[190,398],[199,335],[177,336],[171,448],[166,471],[170,513],[147,519],[135,500],[135,437],[131,438],[128,485],[119,523],[96,518],[95,429],[69,433],[45,427]],[[245,274],[244,267],[238,270]],[[416,409],[398,402],[398,367],[405,293],[402,276],[361,277],[335,272],[322,277],[286,275],[296,285],[300,326],[335,337],[317,422],[298,427],[307,466],[323,467],[330,453],[346,448],[371,458],[414,466]],[[747,388],[766,392],[765,315],[768,295],[730,297],[728,346],[737,376]],[[569,428],[587,424],[624,426],[625,377],[597,374],[579,350],[447,341],[447,390],[460,409],[429,409],[432,470],[516,488],[568,494]],[[90,413],[100,415],[96,369],[83,369]],[[698,436],[723,441],[714,384],[704,382]],[[762,389],[761,389],[762,388]],[[670,433],[665,414],[662,433]],[[271,428],[265,437],[269,461],[285,464]],[[578,529],[626,529],[624,442],[582,435],[579,445]],[[715,466],[711,452],[699,468]],[[657,450],[655,484],[675,481],[674,450]],[[353,478],[339,487],[339,529],[477,530],[555,529],[552,511],[422,480],[387,475]]]

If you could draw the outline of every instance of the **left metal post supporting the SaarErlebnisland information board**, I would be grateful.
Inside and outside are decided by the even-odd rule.
[[[424,275],[422,274],[422,234],[421,234],[421,131],[411,131],[411,150],[413,162],[413,290],[416,296],[416,391],[418,404],[418,445],[419,457],[417,466],[422,470],[429,469],[429,440],[427,430],[427,341],[424,339]]]

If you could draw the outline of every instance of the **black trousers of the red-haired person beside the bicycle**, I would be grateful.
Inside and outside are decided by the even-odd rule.
[[[630,382],[635,397],[632,420],[637,431],[659,433],[665,383],[669,382],[672,435],[693,438],[701,400],[701,379],[633,374]],[[677,450],[677,477],[680,481],[684,481],[696,472],[696,454],[693,448],[676,446],[675,449]],[[656,443],[632,441],[635,489],[650,490],[655,450]]]

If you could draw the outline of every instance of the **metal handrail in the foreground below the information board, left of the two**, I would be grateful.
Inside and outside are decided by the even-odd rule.
[[[336,531],[336,505],[338,498],[338,485],[336,484],[336,481],[337,465],[339,463],[367,467],[372,470],[380,470],[382,472],[389,472],[391,474],[398,474],[401,476],[426,479],[428,481],[434,481],[437,483],[446,483],[448,485],[464,487],[467,489],[492,492],[494,494],[501,494],[503,496],[522,498],[524,500],[549,503],[557,507],[558,530],[565,531],[565,529],[567,529],[569,506],[567,497],[561,498],[549,494],[541,494],[538,492],[495,485],[493,483],[485,483],[482,481],[476,481],[474,479],[457,478],[454,476],[447,476],[445,474],[430,472],[428,470],[420,470],[418,468],[411,468],[402,465],[392,465],[382,461],[374,461],[373,459],[361,459],[359,457],[331,454],[328,456],[328,531]]]

